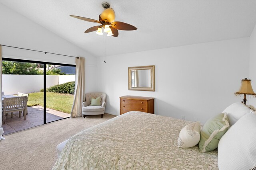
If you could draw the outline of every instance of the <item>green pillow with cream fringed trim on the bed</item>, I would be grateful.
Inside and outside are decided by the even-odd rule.
[[[228,131],[228,127],[230,125],[226,113],[220,113],[206,121],[198,143],[200,152],[210,152],[216,149],[220,138]]]

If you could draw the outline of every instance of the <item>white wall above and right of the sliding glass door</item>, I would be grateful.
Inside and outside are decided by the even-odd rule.
[[[43,16],[42,16],[43,17]],[[86,92],[96,91],[97,59],[0,3],[0,44],[86,58]],[[2,57],[75,64],[75,58],[2,47]]]

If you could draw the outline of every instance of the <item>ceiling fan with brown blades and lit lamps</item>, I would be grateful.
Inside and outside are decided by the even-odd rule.
[[[128,23],[120,22],[120,21],[114,21],[116,18],[116,14],[112,8],[110,8],[110,5],[107,2],[102,2],[102,7],[104,8],[104,11],[99,15],[99,20],[93,20],[90,18],[84,18],[80,16],[72,16],[74,18],[88,21],[88,22],[95,22],[100,23],[101,25],[97,25],[94,27],[90,27],[84,33],[90,33],[92,31],[96,31],[96,34],[102,35],[102,27],[104,28],[104,32],[108,33],[108,36],[117,37],[118,36],[118,29],[119,30],[136,30],[137,28],[133,25],[130,25]]]

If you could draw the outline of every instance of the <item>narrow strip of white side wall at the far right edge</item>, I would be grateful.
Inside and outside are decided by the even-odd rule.
[[[256,92],[256,25],[250,36],[250,79],[252,89]],[[256,99],[252,96],[246,96],[248,100],[246,104],[252,104],[256,107]]]

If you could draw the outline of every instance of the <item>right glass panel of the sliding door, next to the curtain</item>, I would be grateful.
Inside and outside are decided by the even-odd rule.
[[[70,117],[75,71],[74,66],[46,64],[46,123]]]

